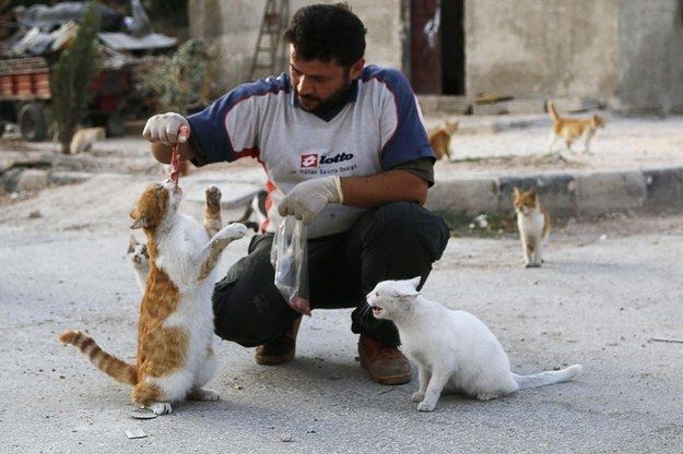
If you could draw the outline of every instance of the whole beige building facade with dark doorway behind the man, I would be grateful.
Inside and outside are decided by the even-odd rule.
[[[310,3],[292,0],[290,11]],[[683,111],[683,0],[348,3],[368,28],[367,61],[402,69],[419,94],[575,97],[626,112]],[[191,34],[220,46],[225,87],[249,79],[264,5],[190,0]]]

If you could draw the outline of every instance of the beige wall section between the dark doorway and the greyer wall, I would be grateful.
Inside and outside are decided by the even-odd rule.
[[[616,92],[619,0],[467,0],[464,10],[469,95]]]

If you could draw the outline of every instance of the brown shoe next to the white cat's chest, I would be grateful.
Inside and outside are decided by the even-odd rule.
[[[410,363],[398,348],[387,347],[361,334],[358,338],[361,367],[381,384],[404,384],[412,379]]]

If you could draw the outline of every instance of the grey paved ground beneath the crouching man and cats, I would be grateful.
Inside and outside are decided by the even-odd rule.
[[[628,130],[628,121],[641,126],[643,134],[653,131],[652,141],[669,138],[670,145],[661,143],[667,154],[660,163],[680,153],[681,136],[672,123],[680,119],[610,126]],[[503,142],[505,131],[479,134],[479,141],[468,136],[482,159],[439,163],[437,178],[444,168],[495,171],[496,153],[528,140],[540,146],[544,131],[545,126],[532,124],[508,131],[513,135]],[[608,138],[602,139],[605,145]],[[631,141],[621,143],[626,150]],[[601,150],[600,135],[594,145],[594,156],[614,156],[612,166],[628,162]],[[4,140],[0,160],[39,156],[50,147]],[[501,166],[542,168],[532,158],[529,153]],[[563,165],[543,165],[555,164]],[[222,342],[213,386],[223,401],[180,405],[173,415],[138,421],[129,418],[129,390],[56,337],[67,327],[87,328],[108,351],[133,357],[140,291],[125,260],[128,212],[141,188],[164,171],[138,139],[106,141],[94,156],[69,157],[59,166],[101,175],[80,184],[0,196],[2,452],[683,451],[683,344],[651,340],[683,338],[681,215],[569,223],[551,237],[541,270],[521,267],[514,235],[451,239],[424,291],[486,322],[515,371],[580,362],[586,374],[575,383],[488,403],[447,396],[433,414],[419,414],[410,402],[414,382],[386,387],[367,380],[354,359],[349,311],[314,311],[302,326],[293,363],[259,367],[251,349]],[[195,198],[205,184],[221,182],[226,198],[236,199],[258,187],[262,171],[240,163],[195,171],[181,181]],[[200,205],[187,203],[185,211],[199,216]],[[234,216],[235,211],[224,212],[225,218]],[[244,253],[247,241],[228,248],[223,270]],[[131,429],[148,437],[129,440],[125,431]],[[292,441],[282,441],[286,437]]]

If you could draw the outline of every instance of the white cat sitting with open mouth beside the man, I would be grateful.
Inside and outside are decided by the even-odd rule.
[[[513,373],[503,346],[481,320],[424,298],[417,285],[420,277],[381,282],[367,302],[375,318],[396,324],[403,350],[419,366],[420,390],[412,399],[420,411],[432,411],[444,387],[488,401],[581,374],[580,365],[534,375]]]

